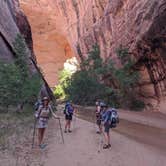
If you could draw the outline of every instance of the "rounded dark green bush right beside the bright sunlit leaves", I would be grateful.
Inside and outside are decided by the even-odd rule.
[[[68,86],[64,89],[69,100],[74,103],[91,105],[96,98],[105,95],[106,87],[100,84],[88,71],[78,71],[73,74]]]

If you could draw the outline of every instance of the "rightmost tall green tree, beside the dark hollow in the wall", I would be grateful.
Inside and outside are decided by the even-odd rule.
[[[134,60],[129,50],[123,46],[120,46],[116,53],[122,65],[114,70],[114,77],[119,83],[121,105],[132,109],[142,109],[144,102],[139,99],[136,91],[140,75],[137,70],[134,70]]]

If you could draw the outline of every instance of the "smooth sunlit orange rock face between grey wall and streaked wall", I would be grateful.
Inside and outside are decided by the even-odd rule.
[[[37,62],[49,85],[54,87],[58,83],[59,70],[67,59],[75,56],[63,32],[63,17],[54,1],[20,0],[20,5],[31,25]]]

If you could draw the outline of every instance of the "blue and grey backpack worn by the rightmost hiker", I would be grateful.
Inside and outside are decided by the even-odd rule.
[[[119,115],[116,109],[112,108],[110,110],[109,125],[111,128],[115,128],[119,123]]]

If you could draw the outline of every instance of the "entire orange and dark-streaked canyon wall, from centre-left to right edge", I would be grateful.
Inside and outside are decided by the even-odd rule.
[[[47,74],[48,70],[57,70],[62,66],[61,63],[67,57],[75,56],[78,48],[81,53],[77,56],[81,59],[87,56],[93,44],[98,43],[103,59],[116,60],[115,50],[122,44],[129,48],[131,56],[136,60],[136,68],[141,72],[139,95],[149,106],[160,105],[161,111],[164,111],[165,0],[20,2],[32,25],[38,62],[48,67]],[[56,42],[52,45],[52,41]],[[49,53],[48,50],[53,51]],[[64,56],[64,52],[69,55]]]

